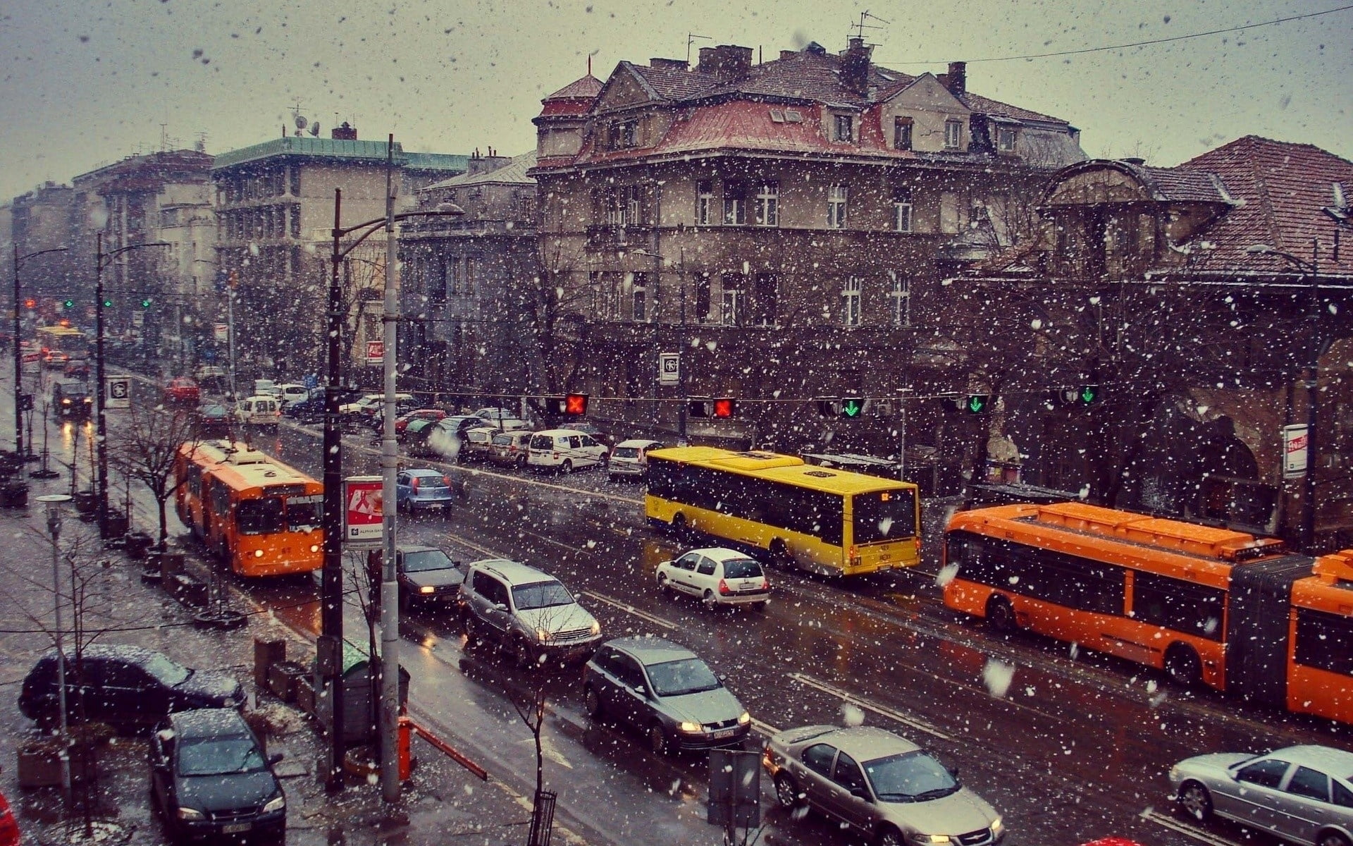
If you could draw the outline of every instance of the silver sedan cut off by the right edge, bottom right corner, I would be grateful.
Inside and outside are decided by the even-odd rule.
[[[1353,753],[1341,749],[1196,755],[1170,767],[1170,785],[1199,822],[1215,814],[1292,843],[1353,843]]]

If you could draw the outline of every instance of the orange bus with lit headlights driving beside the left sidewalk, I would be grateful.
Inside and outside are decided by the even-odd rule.
[[[244,577],[310,573],[323,563],[323,485],[244,443],[183,444],[179,518]]]

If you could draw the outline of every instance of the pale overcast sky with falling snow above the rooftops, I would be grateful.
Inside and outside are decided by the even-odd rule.
[[[1246,134],[1353,157],[1353,9],[1341,0],[870,0],[874,60],[966,60],[969,91],[1082,130],[1091,156],[1173,165]],[[406,149],[534,145],[540,99],[621,60],[737,43],[836,51],[865,7],[806,0],[9,0],[0,11],[0,202],[137,152],[258,143],[292,111]],[[161,129],[161,125],[165,125]]]

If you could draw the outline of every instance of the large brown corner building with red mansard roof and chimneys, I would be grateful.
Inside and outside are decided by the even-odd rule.
[[[962,62],[911,76],[861,39],[620,62],[536,125],[551,383],[666,437],[683,395],[737,397],[690,436],[783,449],[823,437],[813,397],[913,390],[940,280],[1020,244],[1042,181],[1085,157],[1066,120],[970,92]],[[659,387],[676,351],[685,384]],[[896,449],[894,422],[854,422],[838,447]]]

